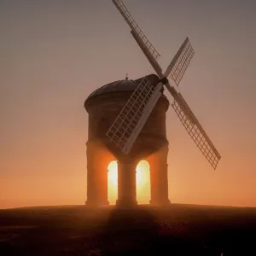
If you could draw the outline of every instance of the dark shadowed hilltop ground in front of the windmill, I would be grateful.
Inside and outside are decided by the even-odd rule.
[[[0,255],[256,255],[256,209],[0,210]]]

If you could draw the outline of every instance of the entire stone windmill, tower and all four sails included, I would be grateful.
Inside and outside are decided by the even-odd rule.
[[[216,169],[221,156],[207,136],[181,93],[177,92],[194,50],[186,38],[166,72],[158,63],[160,54],[148,41],[121,0],[112,0],[131,27],[131,35],[143,50],[157,75],[143,79],[106,84],[84,102],[89,113],[87,142],[87,205],[108,204],[108,163],[118,160],[117,205],[131,207],[136,199],[136,166],[148,160],[152,205],[166,205],[168,200],[166,111],[169,102],[164,85],[174,101],[172,108],[189,136]],[[176,84],[170,84],[169,79]],[[106,136],[107,135],[107,136]]]

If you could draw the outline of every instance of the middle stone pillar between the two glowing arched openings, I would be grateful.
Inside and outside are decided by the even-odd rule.
[[[137,205],[135,160],[118,161],[118,200],[117,207],[134,207]]]

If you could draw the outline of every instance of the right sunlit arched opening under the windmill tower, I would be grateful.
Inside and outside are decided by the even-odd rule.
[[[136,167],[137,203],[148,204],[150,195],[150,170],[146,160],[141,160]]]

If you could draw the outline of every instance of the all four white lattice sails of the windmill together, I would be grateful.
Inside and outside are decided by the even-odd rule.
[[[146,55],[160,79],[157,84],[151,84],[147,77],[144,77],[137,85],[137,89],[132,93],[128,102],[126,102],[125,107],[113,121],[113,125],[108,129],[106,133],[107,137],[124,154],[129,154],[148,116],[163,93],[165,86],[173,97],[172,108],[177,113],[178,119],[213,169],[216,169],[218,160],[221,158],[218,150],[214,147],[211,139],[207,136],[206,131],[204,131],[198,119],[196,119],[195,114],[189,108],[188,103],[184,100],[181,93],[177,92],[169,81],[171,79],[177,86],[180,84],[189,66],[189,62],[195,54],[194,49],[192,49],[189,43],[189,38],[185,38],[183,44],[177,50],[177,54],[166,68],[166,72],[163,73],[158,63],[160,54],[154,49],[154,46],[149,42],[148,38],[137,25],[137,22],[131,17],[125,4],[121,0],[112,1],[120,14],[125,18],[127,24],[131,27],[131,35],[143,50],[144,55]]]

